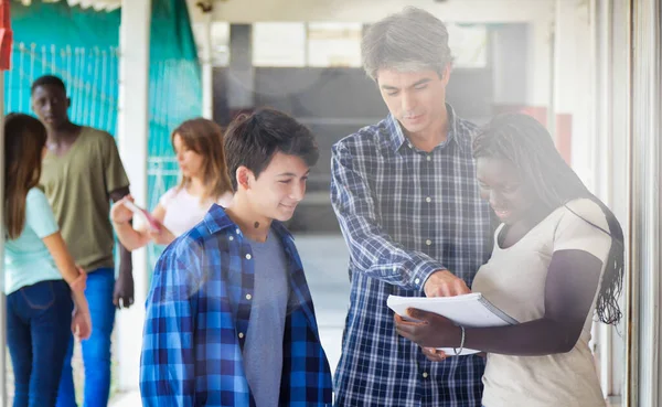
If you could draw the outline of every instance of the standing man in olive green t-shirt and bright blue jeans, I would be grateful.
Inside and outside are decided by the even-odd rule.
[[[71,99],[64,82],[52,75],[32,84],[32,110],[47,131],[47,153],[40,184],[46,194],[66,246],[87,272],[85,297],[89,303],[92,335],[81,343],[85,366],[84,406],[108,405],[110,395],[110,336],[116,308],[134,303],[131,253],[118,246],[115,277],[110,201],[129,193],[129,179],[113,136],[71,121]],[[74,336],[64,360],[57,407],[75,407],[72,372]]]

